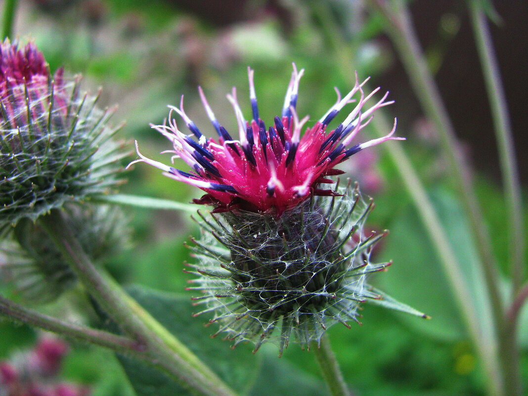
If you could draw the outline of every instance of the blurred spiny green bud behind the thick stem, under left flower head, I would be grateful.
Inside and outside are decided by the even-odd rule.
[[[64,206],[74,237],[90,259],[101,264],[129,244],[130,228],[124,213],[114,206],[69,203]],[[0,245],[0,279],[14,285],[26,300],[46,303],[77,282],[62,253],[39,225],[22,219],[11,238]]]

